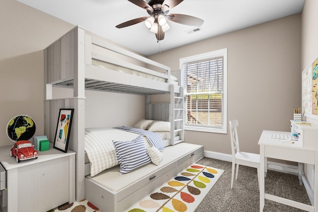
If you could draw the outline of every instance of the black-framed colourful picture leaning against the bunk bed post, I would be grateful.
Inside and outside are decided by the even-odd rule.
[[[60,109],[53,148],[67,152],[74,109]]]

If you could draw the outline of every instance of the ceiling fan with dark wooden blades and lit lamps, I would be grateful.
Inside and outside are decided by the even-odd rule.
[[[123,28],[145,21],[145,25],[150,31],[156,34],[158,41],[163,40],[164,32],[170,29],[167,19],[175,23],[190,26],[201,26],[204,20],[183,14],[168,14],[169,9],[175,7],[183,0],[150,0],[148,3],[144,0],[129,0],[147,10],[150,16],[135,18],[124,23],[118,24],[117,28]]]

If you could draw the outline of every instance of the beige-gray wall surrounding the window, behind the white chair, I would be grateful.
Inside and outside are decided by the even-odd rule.
[[[169,36],[166,34],[166,36]],[[228,120],[239,120],[242,151],[259,153],[263,130],[290,131],[301,102],[301,14],[291,15],[201,42],[161,52],[150,59],[171,70],[179,58],[228,48]],[[230,134],[185,131],[186,142],[231,154]]]

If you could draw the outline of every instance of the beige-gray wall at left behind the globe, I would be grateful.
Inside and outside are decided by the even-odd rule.
[[[74,26],[15,0],[0,0],[0,146],[8,121],[27,114],[44,132],[43,49]]]

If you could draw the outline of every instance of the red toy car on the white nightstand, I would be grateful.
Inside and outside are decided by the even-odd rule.
[[[16,141],[10,150],[10,156],[15,157],[18,163],[20,160],[37,159],[38,151],[30,141]]]

